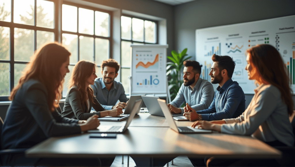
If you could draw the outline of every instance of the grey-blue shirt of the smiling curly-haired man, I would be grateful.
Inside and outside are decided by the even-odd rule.
[[[101,77],[95,79],[91,88],[98,102],[107,110],[111,110],[118,100],[125,103],[128,101],[121,82],[113,81],[111,90],[108,90]]]

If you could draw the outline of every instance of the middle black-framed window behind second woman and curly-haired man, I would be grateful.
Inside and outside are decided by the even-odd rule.
[[[72,53],[63,96],[67,95],[67,83],[79,60],[95,61],[100,67],[103,60],[111,58],[111,16],[108,11],[98,11],[88,6],[72,3],[62,5],[62,43]],[[99,71],[100,69],[96,69],[96,73]]]

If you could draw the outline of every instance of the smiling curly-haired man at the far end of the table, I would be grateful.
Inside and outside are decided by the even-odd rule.
[[[120,65],[114,59],[104,60],[101,64],[101,78],[96,78],[94,85],[91,85],[94,96],[102,107],[107,110],[126,107],[128,101],[123,85],[115,81],[118,76]],[[119,102],[117,103],[117,101]]]

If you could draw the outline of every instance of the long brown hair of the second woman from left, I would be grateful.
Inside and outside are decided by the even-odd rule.
[[[90,61],[80,60],[74,67],[71,75],[71,79],[69,81],[68,87],[71,88],[73,86],[77,86],[78,91],[82,94],[82,102],[86,102],[87,99],[91,100],[92,103],[94,103],[94,94],[93,90],[90,87],[90,85],[87,87],[87,90],[85,91],[86,86],[86,80],[91,76],[93,72],[93,68],[96,66],[95,63],[92,63]],[[70,90],[70,89],[69,89]],[[88,95],[88,96],[87,96]]]

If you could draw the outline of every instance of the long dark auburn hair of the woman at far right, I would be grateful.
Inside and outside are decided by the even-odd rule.
[[[278,50],[271,45],[262,44],[248,49],[247,53],[261,77],[280,90],[281,98],[288,107],[288,114],[291,115],[294,107],[292,89],[289,86],[286,66]]]

